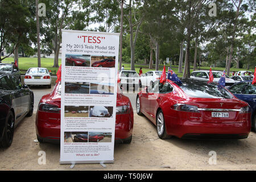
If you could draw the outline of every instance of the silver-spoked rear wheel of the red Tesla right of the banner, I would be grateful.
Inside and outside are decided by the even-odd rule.
[[[170,136],[166,133],[166,124],[164,122],[164,115],[162,110],[159,110],[156,116],[156,130],[160,139],[170,138]]]

